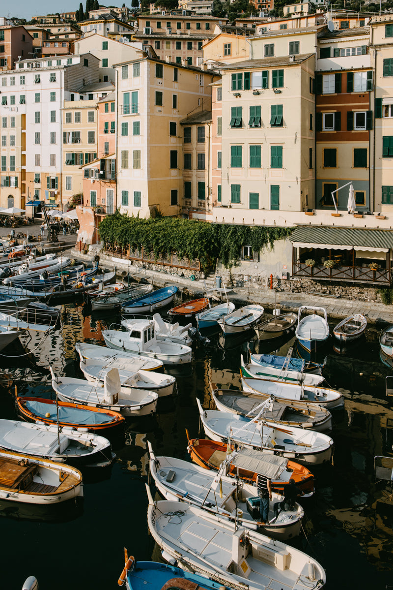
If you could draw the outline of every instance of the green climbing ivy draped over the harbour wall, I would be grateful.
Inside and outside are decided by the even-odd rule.
[[[254,251],[288,237],[290,228],[249,227],[248,225],[211,224],[194,219],[172,217],[140,219],[115,212],[100,223],[100,235],[107,244],[131,250],[152,252],[154,256],[176,252],[181,258],[199,260],[206,271],[217,258],[227,268],[236,264],[240,249],[249,245]]]

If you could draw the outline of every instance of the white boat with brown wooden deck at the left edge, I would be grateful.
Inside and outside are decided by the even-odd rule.
[[[0,450],[1,500],[57,504],[77,496],[83,496],[82,474],[75,467]]]

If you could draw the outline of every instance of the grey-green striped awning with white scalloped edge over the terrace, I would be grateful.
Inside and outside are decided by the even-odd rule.
[[[289,239],[295,248],[326,248],[328,250],[354,248],[354,250],[374,252],[388,252],[393,249],[392,230],[298,225]]]

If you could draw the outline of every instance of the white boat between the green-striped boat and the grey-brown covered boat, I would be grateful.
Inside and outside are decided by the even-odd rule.
[[[265,398],[273,395],[278,399],[320,404],[329,410],[344,405],[344,397],[336,389],[247,377],[243,372],[243,367],[240,367],[240,376],[242,377],[243,391],[263,395]]]

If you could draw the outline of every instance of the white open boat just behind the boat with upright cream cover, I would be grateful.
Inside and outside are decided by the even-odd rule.
[[[129,362],[124,359],[116,359],[109,362],[81,359],[80,369],[87,381],[104,381],[108,371],[116,368],[120,377],[121,393],[127,394],[128,389],[146,389],[154,391],[159,398],[173,394],[176,379],[172,375],[164,375],[155,371],[133,371],[128,369]]]

